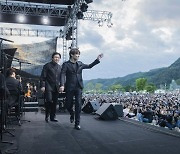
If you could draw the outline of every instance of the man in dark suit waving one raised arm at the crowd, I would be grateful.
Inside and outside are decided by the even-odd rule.
[[[70,59],[64,62],[61,70],[61,87],[60,92],[66,91],[66,108],[70,113],[70,122],[74,122],[73,98],[75,98],[75,129],[80,130],[80,112],[81,99],[83,89],[82,70],[90,69],[100,63],[103,54],[100,54],[97,59],[87,65],[78,61],[80,51],[71,49],[69,52]]]

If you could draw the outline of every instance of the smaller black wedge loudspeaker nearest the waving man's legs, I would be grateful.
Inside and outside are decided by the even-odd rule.
[[[100,108],[99,102],[90,101],[82,108],[82,111],[84,113],[92,113],[92,112],[96,112],[99,108]]]

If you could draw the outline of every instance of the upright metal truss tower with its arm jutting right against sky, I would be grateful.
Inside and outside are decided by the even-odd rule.
[[[72,39],[70,41],[72,41],[70,48],[78,48],[78,19],[76,14],[78,13],[78,11],[80,11],[80,6],[82,3],[84,3],[85,0],[77,0],[73,7],[70,9],[69,11],[69,16],[66,20],[66,24],[64,26],[64,30],[63,30],[63,40],[65,40],[66,34],[68,33],[69,29],[72,28]],[[111,18],[112,18],[112,13],[111,12],[107,12],[107,11],[96,11],[96,10],[90,10],[90,11],[86,11],[83,12],[83,20],[92,20],[92,21],[97,21],[99,26],[103,26],[104,23],[107,23],[108,27],[111,27],[113,24],[111,22]],[[68,40],[66,40],[68,41]],[[65,41],[63,41],[63,53],[67,53],[67,51],[64,51],[64,49],[67,50],[67,48],[64,48],[64,46],[67,45],[67,43],[65,43]],[[67,55],[67,54],[65,54]],[[66,61],[67,57],[63,56],[63,61]]]

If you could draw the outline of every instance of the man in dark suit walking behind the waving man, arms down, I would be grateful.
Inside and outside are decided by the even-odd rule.
[[[58,122],[56,116],[56,105],[59,95],[61,66],[58,64],[61,54],[52,54],[52,61],[45,64],[41,72],[41,90],[45,92],[45,121]]]

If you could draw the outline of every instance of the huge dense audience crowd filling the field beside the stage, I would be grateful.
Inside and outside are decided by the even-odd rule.
[[[88,94],[83,102],[120,103],[124,117],[180,131],[180,93]]]

